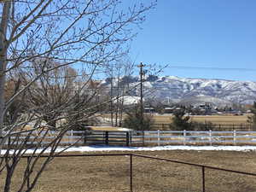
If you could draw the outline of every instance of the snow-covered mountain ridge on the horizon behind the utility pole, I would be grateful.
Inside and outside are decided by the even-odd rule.
[[[138,77],[125,76],[119,80],[119,84],[120,82],[129,83],[130,88],[135,87],[130,95],[139,96]],[[113,86],[117,84],[118,79],[113,79]],[[104,80],[102,85],[110,86],[110,83]],[[217,106],[231,103],[251,104],[256,101],[256,82],[149,75],[144,79],[143,92],[145,99],[154,98],[166,102],[210,102]]]

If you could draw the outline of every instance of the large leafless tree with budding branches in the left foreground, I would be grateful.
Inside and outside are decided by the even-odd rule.
[[[155,3],[150,3],[148,6],[137,4],[126,11],[122,9],[125,7],[122,3],[116,0],[6,0],[0,4],[0,154],[3,146],[9,143],[7,150],[3,151],[4,158],[1,159],[0,164],[0,172],[7,172],[3,191],[7,192],[11,189],[11,179],[15,167],[20,162],[20,157],[26,153],[28,137],[32,139],[30,143],[36,146],[34,154],[41,147],[40,143],[44,137],[36,137],[35,131],[43,130],[47,135],[49,130],[56,128],[55,124],[50,122],[65,119],[67,116],[73,119],[58,127],[55,131],[55,139],[41,150],[40,153],[44,153],[45,150],[50,149],[49,158],[44,161],[42,169],[38,171],[33,183],[27,187],[26,191],[32,190],[44,167],[54,157],[55,148],[65,131],[71,129],[74,122],[81,120],[84,113],[90,116],[95,113],[96,106],[84,106],[79,110],[73,110],[79,106],[79,103],[84,102],[78,99],[81,92],[74,94],[73,97],[66,96],[67,91],[61,90],[65,89],[65,84],[68,82],[58,82],[59,85],[53,85],[52,81],[60,81],[57,80],[55,73],[59,72],[57,69],[61,70],[66,66],[79,66],[88,74],[89,81],[93,74],[105,71],[106,63],[118,60],[125,54],[122,47],[134,37],[131,24],[141,24],[145,11],[153,8]],[[35,61],[40,61],[39,67],[35,67]],[[65,70],[62,72],[61,75],[67,75]],[[25,75],[25,78],[23,76],[26,84],[17,86],[14,94],[5,98],[6,81],[15,73],[30,74],[30,76]],[[41,83],[43,79],[44,83]],[[44,89],[44,86],[47,88]],[[56,86],[59,86],[56,89],[58,91],[54,91]],[[81,85],[81,87],[84,86]],[[80,90],[82,89],[78,91]],[[61,104],[49,111],[44,110],[47,106],[42,105],[42,102],[39,102],[38,108],[34,102],[32,109],[26,108],[26,111],[17,115],[11,124],[4,125],[9,108],[26,91],[29,91],[30,96],[33,97],[36,93],[39,96],[40,93],[46,92],[58,95],[57,98],[61,98],[59,102]],[[53,98],[56,97],[43,95],[41,101],[46,99],[46,102],[50,103],[49,99]],[[70,105],[67,106],[64,103]],[[97,103],[97,105],[100,104]],[[55,116],[43,125],[49,112],[55,113]],[[67,115],[68,112],[72,113]],[[26,130],[26,125],[31,125],[31,129]],[[20,143],[18,138],[22,134],[26,134],[26,139]],[[15,139],[12,140],[12,137]],[[12,146],[15,146],[15,149],[11,150]],[[30,164],[32,167],[38,162],[38,159],[33,160],[35,161]],[[24,181],[31,174],[30,166],[24,173]],[[25,190],[24,184],[24,182],[20,183],[19,191]]]

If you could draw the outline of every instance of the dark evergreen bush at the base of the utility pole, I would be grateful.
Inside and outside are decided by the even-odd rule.
[[[143,126],[141,126],[141,119],[143,118]],[[134,130],[151,130],[154,124],[154,119],[151,115],[141,116],[141,110],[138,105],[131,108],[130,111],[126,112],[123,126]]]

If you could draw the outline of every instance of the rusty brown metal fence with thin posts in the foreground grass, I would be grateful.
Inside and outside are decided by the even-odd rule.
[[[201,184],[200,184],[200,188],[202,192],[206,192],[206,191],[212,191],[212,186],[210,186],[210,182],[207,182],[207,179],[210,179],[210,176],[212,176],[212,171],[214,172],[218,172],[218,174],[221,175],[220,172],[230,172],[230,173],[234,173],[236,174],[236,177],[239,177],[241,179],[241,177],[246,177],[246,176],[251,176],[253,177],[253,181],[256,181],[256,173],[252,173],[252,172],[240,172],[240,171],[236,171],[236,170],[231,170],[231,169],[224,169],[224,168],[219,168],[219,167],[215,167],[215,166],[205,166],[205,165],[200,165],[200,164],[194,164],[194,163],[189,163],[189,162],[184,162],[184,161],[179,161],[179,160],[170,160],[170,159],[165,159],[165,158],[160,158],[160,157],[154,157],[154,156],[148,156],[148,155],[142,155],[142,154],[59,154],[59,155],[55,155],[55,158],[72,158],[72,157],[81,157],[81,158],[85,158],[85,157],[118,157],[118,156],[125,156],[125,157],[129,157],[129,172],[126,172],[126,176],[129,177],[129,190],[131,192],[133,191],[137,191],[137,189],[134,188],[134,183],[136,182],[137,177],[134,177],[138,172],[136,169],[136,162],[135,158],[139,158],[141,159],[140,161],[145,161],[146,159],[148,160],[155,160],[155,161],[160,161],[160,162],[165,162],[165,163],[174,163],[177,165],[181,165],[181,166],[190,166],[190,167],[197,167],[199,168],[197,170],[197,174],[200,174],[201,176]],[[30,160],[32,158],[36,158],[36,155],[24,155],[21,156],[21,158],[25,158],[27,160],[27,162],[30,162]],[[40,158],[48,158],[48,155],[41,155]],[[6,158],[3,156],[0,156],[0,158]],[[145,161],[146,162],[146,161]],[[165,164],[167,166],[167,164]],[[29,167],[29,166],[28,166]],[[207,171],[207,172],[206,172]],[[30,170],[26,170],[26,172],[30,172]],[[172,175],[172,172],[169,172],[170,175]],[[159,176],[161,177],[161,176]],[[50,176],[49,176],[50,178]],[[172,177],[170,177],[170,179],[172,179]],[[214,179],[214,178],[213,178]],[[225,183],[230,183],[230,179],[232,178],[227,178],[224,177],[224,182]],[[29,187],[31,186],[31,180],[30,177],[26,177],[26,186],[29,189]],[[153,181],[148,181],[148,184],[152,184]],[[190,181],[189,185],[191,186],[195,181],[192,180]],[[212,177],[211,177],[211,182],[212,182]],[[215,191],[218,191],[218,183],[217,182],[213,182],[214,187],[213,189],[217,189]],[[84,183],[84,185],[88,185],[90,183]],[[142,186],[141,186],[142,187]],[[153,186],[151,186],[153,187]],[[250,189],[252,189],[253,187],[255,187],[255,189],[253,189],[253,191],[256,191],[256,186],[253,185]],[[242,189],[244,188],[244,189]],[[168,191],[172,191],[172,185],[170,185],[168,187]],[[149,190],[150,191],[150,190]],[[190,190],[188,190],[190,191]],[[192,190],[191,190],[192,191]],[[241,186],[241,189],[239,189],[239,191],[247,191],[246,186]]]

